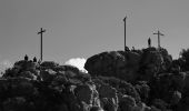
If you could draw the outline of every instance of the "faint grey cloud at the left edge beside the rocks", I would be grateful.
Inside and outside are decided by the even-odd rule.
[[[0,62],[0,72],[3,72],[6,69],[11,68],[12,63],[9,60],[3,60]]]

